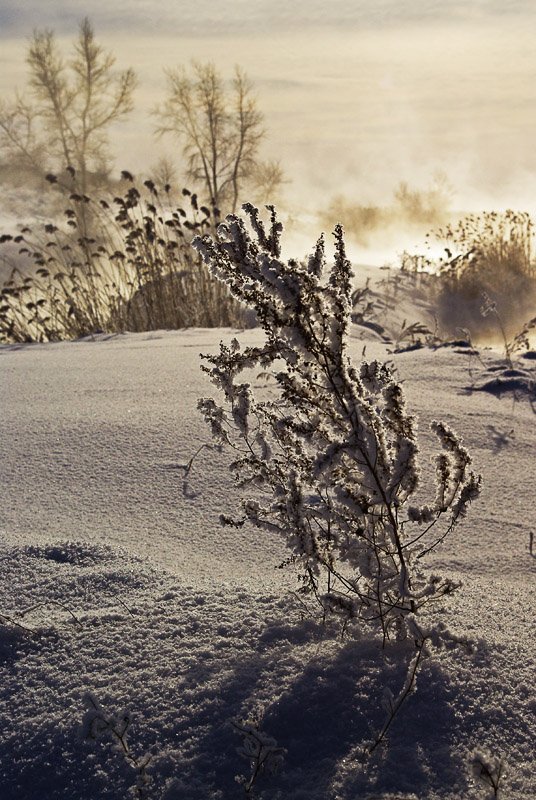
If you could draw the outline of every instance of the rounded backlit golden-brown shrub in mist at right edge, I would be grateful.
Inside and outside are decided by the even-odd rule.
[[[432,236],[445,245],[447,256],[437,265],[435,285],[444,331],[466,328],[475,339],[496,338],[495,320],[481,314],[483,293],[495,303],[507,337],[534,316],[534,224],[528,214],[469,215]]]

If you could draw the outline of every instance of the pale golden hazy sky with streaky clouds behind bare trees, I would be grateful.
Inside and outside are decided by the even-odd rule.
[[[140,86],[114,131],[117,168],[158,152],[166,66],[240,64],[297,205],[388,199],[443,170],[460,207],[536,206],[536,0],[0,0],[0,96],[23,87],[34,28],[67,46],[88,15]]]

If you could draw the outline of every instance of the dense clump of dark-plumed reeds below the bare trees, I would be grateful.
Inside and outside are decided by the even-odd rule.
[[[123,194],[72,194],[63,221],[0,236],[13,263],[0,291],[0,341],[242,324],[239,305],[191,248],[216,222],[209,210],[186,189],[187,210],[173,208],[169,186],[138,188],[123,176]],[[91,236],[80,235],[80,205]]]

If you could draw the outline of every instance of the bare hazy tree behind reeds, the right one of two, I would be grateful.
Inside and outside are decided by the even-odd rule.
[[[156,109],[157,134],[175,135],[186,158],[186,177],[201,183],[213,209],[235,211],[246,185],[274,191],[283,182],[277,162],[263,162],[263,115],[243,70],[226,88],[213,64],[193,62],[191,72],[168,70],[167,97]]]

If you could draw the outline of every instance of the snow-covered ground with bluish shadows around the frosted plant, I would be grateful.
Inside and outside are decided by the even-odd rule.
[[[0,348],[2,800],[130,796],[136,772],[120,748],[84,739],[88,693],[108,715],[128,710],[133,759],[152,755],[148,798],[244,796],[235,777],[251,776],[248,742],[233,720],[286,751],[254,785],[262,800],[477,800],[488,795],[471,771],[475,750],[503,759],[500,797],[536,797],[530,403],[468,391],[463,349],[389,355],[355,328],[354,358],[366,343],[404,380],[424,452],[439,418],[484,477],[481,499],[430,558],[463,582],[441,619],[473,647],[424,662],[388,748],[364,770],[361,748],[402,666],[304,615],[292,568],[277,569],[281,541],[219,526],[238,499],[224,455],[201,450],[184,485],[184,465],[210,443],[196,411],[211,393],[199,353],[234,335]]]

